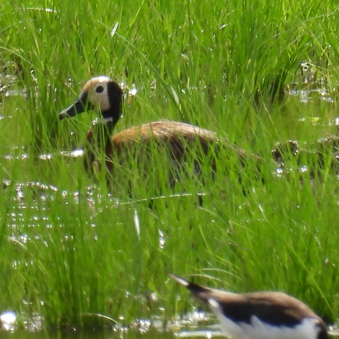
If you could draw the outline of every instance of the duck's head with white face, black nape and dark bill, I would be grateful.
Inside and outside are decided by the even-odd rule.
[[[113,128],[122,114],[122,101],[122,89],[114,80],[95,77],[85,83],[78,99],[59,113],[59,119],[98,108],[104,122]]]

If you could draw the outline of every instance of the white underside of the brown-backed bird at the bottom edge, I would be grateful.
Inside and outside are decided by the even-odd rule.
[[[262,322],[256,316],[252,316],[251,323],[234,322],[222,313],[219,303],[214,299],[208,299],[212,311],[220,321],[221,331],[224,335],[233,339],[317,339],[319,328],[317,319],[304,318],[300,324],[291,326],[273,326]]]

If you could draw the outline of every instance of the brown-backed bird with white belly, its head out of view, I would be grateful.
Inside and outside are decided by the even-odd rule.
[[[327,326],[302,301],[282,292],[233,293],[170,274],[210,306],[222,333],[233,339],[327,339]]]

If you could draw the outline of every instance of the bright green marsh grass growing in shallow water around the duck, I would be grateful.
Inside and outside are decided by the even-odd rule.
[[[291,173],[277,178],[271,156],[277,141],[309,145],[336,132],[329,126],[339,78],[335,1],[7,1],[0,22],[2,86],[6,74],[16,75],[9,88],[27,93],[25,100],[0,92],[0,178],[11,180],[0,195],[0,311],[23,318],[37,312],[52,328],[100,325],[90,313],[123,315],[125,323],[155,314],[169,319],[178,293],[185,295],[178,311],[188,305],[188,294],[168,280],[173,272],[211,275],[223,282],[195,280],[239,292],[281,290],[330,321],[338,318],[338,183],[330,152],[321,168],[301,156],[301,163],[315,163],[314,180],[295,170],[295,159]],[[309,86],[301,83],[302,61],[326,77],[334,103],[281,101],[293,81]],[[215,181],[206,161],[205,185],[182,177],[175,187],[193,196],[157,199],[152,210],[150,198],[174,193],[161,152],[142,160],[146,177],[132,157],[117,168],[111,195],[102,173],[93,186],[82,159],[59,152],[85,143],[94,113],[61,122],[57,113],[101,74],[130,87],[135,81],[139,90],[124,103],[119,131],[158,119],[211,129],[260,154],[264,183],[253,161],[242,167],[224,150]],[[51,160],[39,159],[46,153]],[[22,203],[16,184],[31,181],[58,191],[24,185]],[[206,194],[202,207],[197,192]],[[150,291],[160,300],[151,301]]]

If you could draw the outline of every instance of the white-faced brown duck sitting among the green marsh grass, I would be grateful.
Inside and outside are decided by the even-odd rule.
[[[85,111],[97,110],[100,112],[99,117],[93,121],[92,131],[87,134],[87,144],[92,145],[87,147],[85,152],[84,167],[88,173],[94,174],[98,168],[101,168],[97,159],[98,153],[93,149],[94,144],[97,144],[99,150],[105,152],[107,173],[114,171],[114,167],[117,165],[116,161],[122,164],[126,158],[131,156],[133,147],[146,146],[145,149],[150,151],[153,142],[158,149],[165,149],[170,163],[175,169],[179,169],[185,163],[197,143],[200,145],[200,156],[207,156],[212,148],[214,154],[217,154],[222,143],[223,147],[237,152],[241,162],[244,162],[247,157],[242,148],[231,145],[226,138],[221,142],[215,132],[185,122],[153,121],[113,134],[113,130],[122,116],[122,107],[123,91],[120,85],[112,78],[99,76],[88,80],[75,102],[58,114],[59,120],[63,120]],[[260,161],[259,156],[251,156],[256,161]],[[214,157],[212,158],[211,173],[214,173],[216,161]],[[194,171],[198,174],[200,172],[198,160],[194,163]],[[147,169],[144,172],[147,175]],[[111,179],[112,175],[107,179],[107,184]],[[174,177],[169,180],[172,188],[176,180],[177,178]]]

